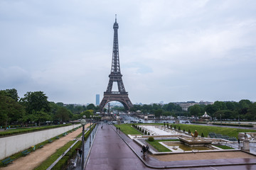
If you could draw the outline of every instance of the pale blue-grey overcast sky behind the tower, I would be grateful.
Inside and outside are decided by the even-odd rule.
[[[1,0],[0,89],[101,100],[114,14],[132,103],[256,101],[255,0]]]

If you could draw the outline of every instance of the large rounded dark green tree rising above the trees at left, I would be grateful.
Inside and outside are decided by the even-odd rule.
[[[43,91],[27,92],[23,98],[21,98],[21,103],[26,107],[26,112],[32,114],[33,111],[50,111],[50,104],[47,100],[46,94]]]

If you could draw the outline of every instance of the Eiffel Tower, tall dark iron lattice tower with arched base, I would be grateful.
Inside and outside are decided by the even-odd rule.
[[[124,83],[122,81],[122,74],[120,71],[119,64],[119,47],[118,47],[118,23],[117,15],[115,15],[114,22],[114,42],[113,42],[113,54],[112,54],[112,66],[111,73],[109,75],[110,81],[107,85],[107,91],[104,92],[102,101],[100,102],[100,112],[103,113],[103,109],[107,103],[110,101],[119,101],[122,103],[126,111],[129,111],[132,108],[132,102],[128,97],[128,92],[124,89]],[[117,82],[118,91],[112,91],[113,83]]]

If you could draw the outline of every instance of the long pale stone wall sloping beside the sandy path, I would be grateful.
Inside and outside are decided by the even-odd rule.
[[[68,130],[77,128],[79,125],[70,125],[61,128],[53,128],[49,130],[41,130],[37,132],[28,132],[21,135],[0,138],[0,159],[10,157],[12,154],[21,152],[24,149],[46,141],[52,137],[60,135]]]

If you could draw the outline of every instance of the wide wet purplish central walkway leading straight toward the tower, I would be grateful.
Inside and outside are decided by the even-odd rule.
[[[88,170],[139,170],[149,169],[117,135],[110,125],[98,128],[85,169]]]

